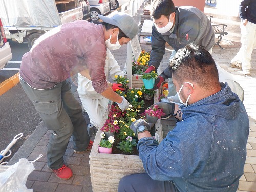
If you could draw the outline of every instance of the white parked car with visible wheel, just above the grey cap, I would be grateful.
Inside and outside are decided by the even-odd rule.
[[[99,15],[110,12],[109,0],[88,0],[90,4],[91,20],[98,20]]]

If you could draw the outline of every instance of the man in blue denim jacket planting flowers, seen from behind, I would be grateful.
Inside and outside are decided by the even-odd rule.
[[[130,127],[146,173],[123,177],[118,191],[236,191],[249,134],[242,101],[201,46],[181,48],[170,66],[183,105],[158,104],[181,121],[159,144],[144,120]]]

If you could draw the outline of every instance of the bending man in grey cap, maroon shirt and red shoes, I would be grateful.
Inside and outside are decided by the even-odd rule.
[[[104,72],[106,49],[119,49],[138,32],[135,20],[118,13],[100,15],[101,25],[78,20],[58,26],[42,35],[22,57],[19,77],[25,93],[34,104],[52,135],[47,147],[47,165],[60,179],[72,177],[63,155],[71,135],[74,153],[92,148],[86,121],[67,80],[82,74],[91,79],[97,93],[116,102],[121,110],[129,103],[116,94]]]

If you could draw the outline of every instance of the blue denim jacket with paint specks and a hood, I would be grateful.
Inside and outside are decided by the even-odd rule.
[[[144,169],[154,180],[172,181],[179,191],[236,191],[243,174],[249,119],[228,84],[181,108],[183,120],[157,145],[139,140]]]

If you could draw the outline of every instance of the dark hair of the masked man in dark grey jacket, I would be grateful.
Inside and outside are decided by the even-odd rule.
[[[154,0],[152,2],[150,14],[154,19],[159,19],[161,15],[169,18],[171,13],[176,11],[172,0]]]

